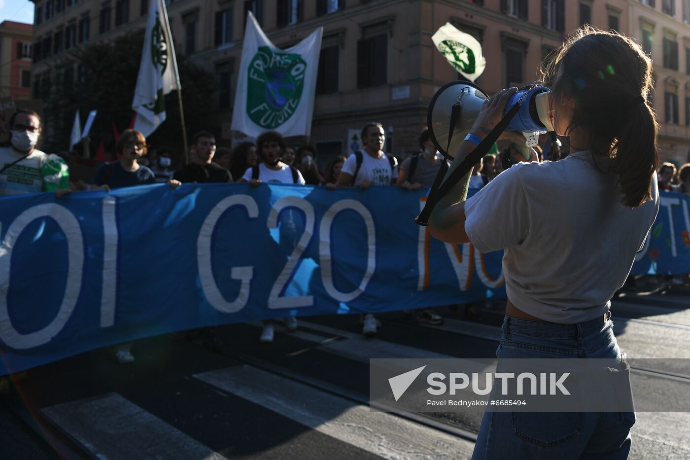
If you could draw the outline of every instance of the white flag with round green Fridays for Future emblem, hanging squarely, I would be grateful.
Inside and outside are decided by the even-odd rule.
[[[311,133],[323,31],[319,27],[292,48],[281,50],[247,12],[233,130],[249,137],[264,131],[284,136]]]

